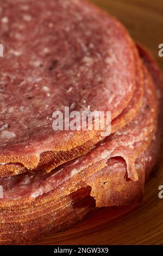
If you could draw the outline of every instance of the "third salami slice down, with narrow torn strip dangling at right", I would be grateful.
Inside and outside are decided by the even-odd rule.
[[[146,69],[144,69],[144,81],[145,81],[145,95],[143,97],[142,107],[140,108],[139,112],[137,112],[135,119],[131,123],[123,127],[120,131],[106,138],[105,141],[97,145],[90,153],[82,157],[79,157],[79,159],[74,160],[71,164],[67,163],[66,167],[64,167],[63,169],[61,167],[61,169],[59,169],[58,172],[57,170],[54,170],[51,174],[47,175],[44,172],[44,170],[40,170],[36,174],[24,174],[24,175],[15,176],[13,178],[11,177],[9,179],[0,179],[1,185],[4,187],[4,189],[6,187],[5,186],[6,180],[8,180],[7,193],[4,193],[4,197],[7,196],[8,193],[11,195],[14,194],[14,200],[16,200],[17,198],[16,194],[18,193],[20,196],[20,191],[23,191],[23,189],[25,190],[25,192],[23,191],[22,193],[26,196],[29,196],[27,191],[29,191],[30,195],[35,194],[36,188],[33,184],[35,184],[40,190],[41,184],[42,184],[42,179],[41,179],[42,176],[45,177],[45,179],[52,180],[52,187],[57,188],[56,184],[53,184],[53,181],[56,182],[55,179],[57,179],[57,184],[58,183],[60,184],[60,182],[62,182],[60,186],[62,184],[66,186],[65,179],[67,180],[70,179],[73,172],[75,175],[76,173],[100,161],[107,162],[108,159],[113,156],[123,156],[123,158],[129,162],[127,164],[128,178],[137,180],[137,175],[134,170],[135,169],[134,161],[137,158],[137,155],[140,154],[141,151],[146,150],[146,148],[148,147],[148,144],[151,143],[151,140],[152,140],[151,135],[153,135],[153,133],[156,130],[157,117],[158,117],[157,103],[156,103],[156,96],[154,92],[153,82],[151,77],[148,75],[148,72]],[[139,126],[137,124],[139,124]],[[137,143],[139,147],[135,147],[134,145],[135,143]],[[137,154],[136,154],[136,150],[138,152]],[[130,156],[132,156],[132,159],[130,159]],[[53,175],[56,177],[59,177],[59,179],[53,178]],[[27,177],[27,180],[29,181],[30,187],[27,186],[26,177]],[[14,182],[15,184],[15,181],[16,181],[16,186],[14,186],[13,188],[12,182]],[[22,184],[26,184],[26,186],[23,186],[22,189],[19,186],[21,182]],[[50,188],[51,186],[49,186],[50,183],[51,182],[49,181],[48,182],[49,189],[51,189]],[[44,188],[42,188],[41,194],[49,192],[49,191],[46,191],[46,188],[45,188],[45,191],[43,190]]]

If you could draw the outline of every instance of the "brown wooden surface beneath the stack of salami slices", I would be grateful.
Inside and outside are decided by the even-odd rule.
[[[162,0],[92,0],[115,15],[131,36],[145,44],[163,70],[158,45],[163,44]],[[153,172],[141,205],[102,209],[70,230],[37,242],[37,245],[163,245],[163,164]]]

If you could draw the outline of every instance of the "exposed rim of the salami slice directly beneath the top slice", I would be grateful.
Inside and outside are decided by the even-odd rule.
[[[118,115],[117,118],[112,120],[111,122],[111,133],[114,133],[118,129],[121,129],[121,127],[125,126],[127,123],[129,123],[133,118],[135,117],[137,111],[139,110],[141,103],[142,103],[142,96],[143,96],[143,75],[141,70],[141,63],[138,57],[137,52],[135,51],[135,62],[136,65],[136,88],[134,97],[129,102],[129,105],[127,108],[123,110],[123,112]],[[53,151],[48,153],[41,154],[40,162],[38,166],[30,170],[30,172],[34,172],[39,169],[45,169],[46,172],[49,172],[50,170],[58,167],[60,164],[65,163],[67,161],[70,161],[72,158],[75,159],[79,157],[80,155],[84,155],[84,153],[91,150],[92,145],[94,145],[95,140],[87,141],[82,147],[76,147],[74,149],[71,149],[71,151],[65,151],[65,152],[59,152],[55,153]],[[49,157],[50,156],[50,157]],[[20,163],[3,163],[0,164],[0,176],[1,178],[17,175],[21,173],[28,172],[28,169],[24,167]]]

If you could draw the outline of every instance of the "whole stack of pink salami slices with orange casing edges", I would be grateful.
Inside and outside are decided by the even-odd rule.
[[[142,198],[159,153],[162,77],[126,29],[84,0],[1,0],[0,243]],[[54,131],[52,114],[111,112],[111,134]]]

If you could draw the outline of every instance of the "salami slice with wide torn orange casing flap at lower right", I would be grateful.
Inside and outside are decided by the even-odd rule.
[[[137,199],[141,199],[143,188],[145,186],[145,180],[147,180],[149,173],[151,172],[154,164],[158,160],[158,155],[160,151],[160,142],[162,138],[162,97],[163,97],[163,77],[160,72],[159,66],[152,57],[152,55],[140,44],[137,44],[140,52],[140,57],[145,63],[148,71],[150,72],[152,79],[154,81],[156,92],[159,101],[159,124],[157,131],[153,136],[152,143],[150,147],[136,159],[135,167],[139,179],[137,182],[132,180],[124,179],[123,169],[126,167],[121,167],[120,159],[117,161],[118,168],[117,171],[113,173],[102,172],[96,173],[92,176],[92,182],[98,176],[98,200],[96,199],[96,206],[111,206],[111,205],[126,205],[133,203]],[[161,131],[161,133],[160,133]],[[111,161],[116,161],[111,160]],[[108,164],[110,167],[110,164]],[[114,170],[114,168],[113,168]],[[89,181],[90,182],[90,181]],[[121,185],[120,185],[121,184]],[[97,196],[97,187],[92,192]],[[101,188],[100,188],[101,187]],[[102,191],[102,192],[101,192]],[[109,191],[109,193],[108,193]],[[132,193],[130,193],[132,191]],[[97,197],[96,197],[97,198]]]

